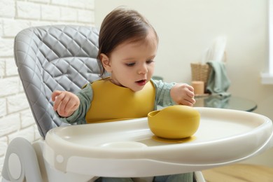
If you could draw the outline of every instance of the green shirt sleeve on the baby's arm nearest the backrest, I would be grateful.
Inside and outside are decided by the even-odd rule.
[[[78,109],[67,118],[60,118],[65,123],[77,123],[77,124],[86,124],[85,116],[87,111],[90,108],[91,101],[93,98],[93,91],[91,87],[91,83],[85,85],[83,90],[80,90],[78,94],[76,94],[80,99],[80,106]]]

